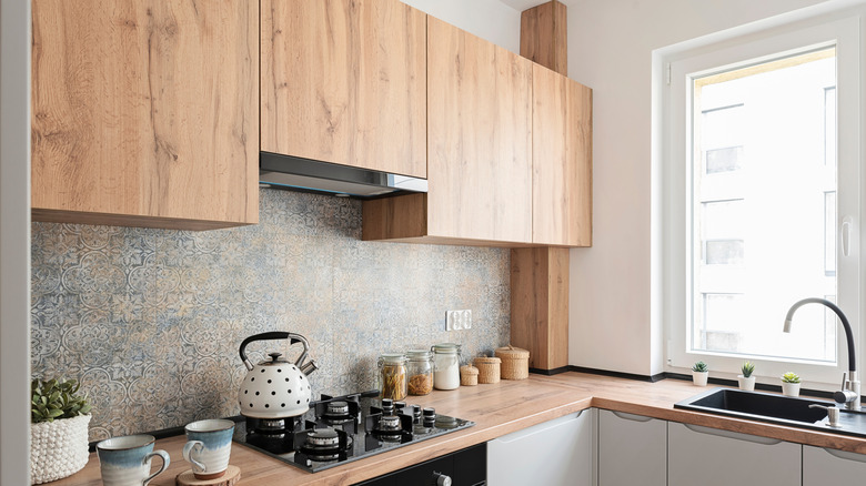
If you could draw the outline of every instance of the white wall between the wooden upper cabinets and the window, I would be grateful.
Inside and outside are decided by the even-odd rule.
[[[565,1],[568,74],[593,89],[594,118],[593,247],[571,252],[570,364],[664,371],[661,285],[651,272],[651,207],[661,198],[651,180],[652,51],[823,2]]]

